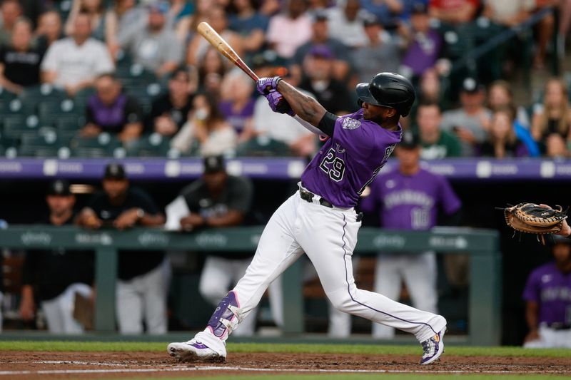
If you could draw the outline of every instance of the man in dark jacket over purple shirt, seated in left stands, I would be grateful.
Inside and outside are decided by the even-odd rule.
[[[113,74],[95,81],[96,93],[86,105],[86,125],[81,135],[93,138],[101,132],[117,135],[123,143],[135,140],[143,131],[141,108],[135,98],[121,91],[121,82]]]

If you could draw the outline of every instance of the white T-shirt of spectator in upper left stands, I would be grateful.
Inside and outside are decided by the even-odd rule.
[[[74,38],[55,41],[49,46],[41,71],[56,72],[56,86],[74,86],[89,81],[103,73],[115,71],[106,46],[101,41],[88,38],[77,45]]]

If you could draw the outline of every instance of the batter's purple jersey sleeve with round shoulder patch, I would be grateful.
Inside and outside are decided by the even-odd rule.
[[[352,115],[337,118],[333,136],[350,155],[364,160],[370,156],[376,144],[373,128],[380,128],[380,126],[368,120],[358,120],[350,116]]]

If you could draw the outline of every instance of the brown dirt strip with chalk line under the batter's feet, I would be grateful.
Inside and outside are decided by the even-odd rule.
[[[94,379],[295,373],[480,373],[571,376],[569,358],[446,356],[433,366],[420,356],[355,354],[231,354],[221,364],[180,364],[158,352],[3,351],[1,379]]]

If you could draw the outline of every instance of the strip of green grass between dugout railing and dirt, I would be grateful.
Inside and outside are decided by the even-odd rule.
[[[166,351],[167,343],[146,342],[46,342],[4,341],[0,351]],[[420,346],[375,346],[359,344],[260,344],[231,343],[228,352],[284,352],[306,354],[417,355]],[[549,356],[569,357],[571,349],[522,349],[521,347],[448,346],[446,355],[458,356]]]

